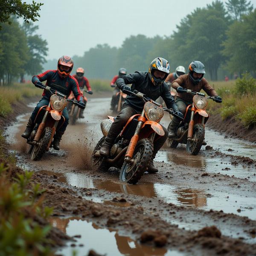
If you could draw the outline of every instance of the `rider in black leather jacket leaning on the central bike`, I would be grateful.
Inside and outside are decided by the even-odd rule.
[[[167,108],[172,108],[175,113],[183,117],[183,114],[178,111],[177,104],[171,96],[168,85],[164,82],[169,74],[170,65],[164,58],[155,58],[150,66],[148,72],[135,72],[127,76],[120,76],[116,80],[117,87],[123,90],[138,90],[144,93],[147,97],[156,100],[161,96]],[[131,87],[126,84],[132,84]],[[122,128],[125,126],[128,119],[135,115],[140,114],[143,111],[144,102],[134,95],[128,95],[125,99],[125,103],[122,106],[121,112],[116,116],[115,122],[111,125],[105,142],[102,144],[99,153],[103,157],[108,157],[110,154],[110,148],[118,136]],[[148,166],[149,173],[158,172],[157,168],[154,167],[153,160],[157,154],[157,151],[163,146],[168,136],[168,131],[163,127],[165,135],[160,137],[154,142],[153,154],[151,157],[150,164]]]

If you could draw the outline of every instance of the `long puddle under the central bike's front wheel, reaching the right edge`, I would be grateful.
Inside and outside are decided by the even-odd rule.
[[[41,171],[40,173],[46,173],[49,176],[55,174],[58,176],[59,181],[79,188],[103,189],[108,192],[137,195],[146,198],[159,198],[166,203],[182,205],[184,207],[196,207],[204,210],[222,210],[225,213],[233,213],[256,220],[256,198],[253,197],[219,191],[212,195],[205,190],[178,188],[176,186],[161,183],[127,185],[111,180],[91,179],[83,173],[56,173],[47,171]],[[128,203],[116,204],[113,201],[106,201],[104,197],[94,197],[93,195],[87,196],[86,199],[122,207],[130,206]]]

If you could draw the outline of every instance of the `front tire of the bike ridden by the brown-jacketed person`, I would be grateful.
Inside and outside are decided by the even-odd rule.
[[[204,126],[202,124],[196,124],[194,126],[193,140],[188,140],[186,144],[186,151],[189,154],[197,155],[199,153],[204,141],[204,132]]]

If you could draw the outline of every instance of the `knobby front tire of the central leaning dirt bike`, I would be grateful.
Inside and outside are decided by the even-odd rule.
[[[150,140],[140,140],[134,150],[133,164],[124,163],[120,172],[119,180],[130,184],[136,184],[144,172],[147,171],[148,164],[153,153],[153,145]]]

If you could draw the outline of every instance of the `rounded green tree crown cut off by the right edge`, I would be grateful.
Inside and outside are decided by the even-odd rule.
[[[256,71],[256,9],[229,27],[223,46],[230,72]]]

